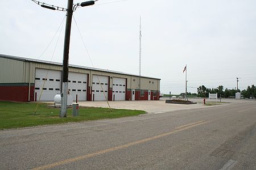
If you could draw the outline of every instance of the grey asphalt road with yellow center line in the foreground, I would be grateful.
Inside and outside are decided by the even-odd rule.
[[[256,103],[0,131],[0,169],[256,169]]]

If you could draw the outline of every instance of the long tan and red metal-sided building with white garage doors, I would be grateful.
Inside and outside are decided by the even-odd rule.
[[[0,100],[53,101],[61,92],[62,63],[0,54]],[[69,65],[73,100],[159,100],[160,79]]]

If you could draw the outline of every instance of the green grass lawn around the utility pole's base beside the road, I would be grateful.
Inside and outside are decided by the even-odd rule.
[[[104,118],[118,118],[137,116],[144,111],[108,108],[79,108],[79,116],[72,116],[72,108],[68,109],[67,117],[59,118],[60,109],[39,103],[34,114],[36,103],[14,103],[0,101],[0,129],[22,128],[28,126],[64,124],[67,122],[80,122],[100,120]]]

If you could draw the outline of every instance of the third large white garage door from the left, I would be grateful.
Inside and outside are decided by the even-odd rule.
[[[108,100],[108,94],[109,94],[108,90],[109,90],[109,77],[102,76],[102,75],[93,75],[92,100],[93,101],[102,101],[106,99]],[[106,98],[105,98],[104,92],[105,92]]]

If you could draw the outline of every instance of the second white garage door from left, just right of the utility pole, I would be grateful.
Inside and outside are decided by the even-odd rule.
[[[73,97],[73,101],[85,101],[86,100],[86,89],[87,89],[87,74],[83,73],[68,73],[68,89]]]

